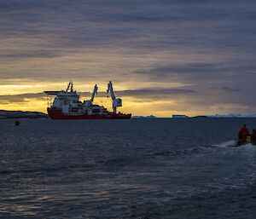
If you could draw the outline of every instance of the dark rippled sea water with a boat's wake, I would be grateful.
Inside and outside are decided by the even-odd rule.
[[[255,218],[256,118],[0,119],[2,218]]]

